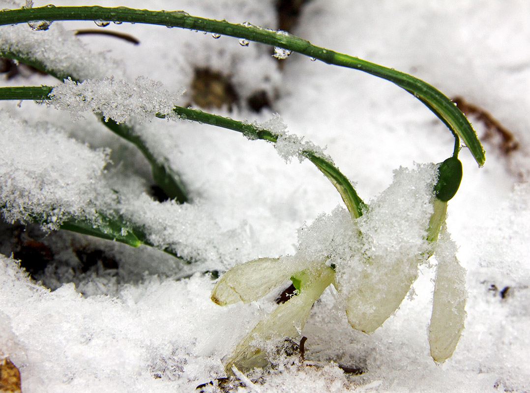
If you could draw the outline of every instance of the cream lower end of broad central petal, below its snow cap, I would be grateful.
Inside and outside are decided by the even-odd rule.
[[[417,279],[418,262],[417,257],[390,266],[368,261],[360,282],[346,301],[350,325],[365,333],[381,326],[398,309]]]

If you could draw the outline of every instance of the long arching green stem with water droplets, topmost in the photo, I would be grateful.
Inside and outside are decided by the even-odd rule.
[[[401,73],[392,68],[379,66],[366,60],[314,46],[309,41],[285,32],[275,32],[256,26],[244,26],[241,24],[228,23],[226,21],[205,19],[191,16],[183,11],[148,11],[127,7],[48,6],[0,12],[0,25],[38,20],[108,20],[148,23],[207,31],[269,44],[293,52],[298,52],[314,59],[319,59],[328,64],[358,69],[368,74],[387,79],[416,96],[421,102],[426,104],[455,135],[462,138],[466,146],[471,150],[476,162],[480,166],[484,164],[484,150],[482,149],[482,145],[476,137],[471,124],[467,121],[464,114],[456,108],[453,102],[435,87],[416,77]]]

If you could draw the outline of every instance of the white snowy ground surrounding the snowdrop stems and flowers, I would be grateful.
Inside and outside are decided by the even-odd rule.
[[[274,3],[54,2],[185,10],[276,29]],[[291,33],[415,75],[449,97],[464,97],[513,132],[520,146],[506,156],[497,139],[485,141],[483,168],[468,150],[460,154],[464,176],[449,202],[447,225],[467,270],[469,298],[463,336],[451,359],[437,365],[429,355],[434,274],[422,267],[413,285],[416,295],[371,335],[354,331],[344,311],[335,307],[335,293],[326,290],[303,332],[308,338],[307,364],[264,372],[255,385],[242,383],[234,391],[522,393],[530,389],[528,17],[530,4],[523,0],[312,0],[303,7]],[[50,31],[60,25],[66,30],[97,27],[93,22],[54,22]],[[327,147],[326,154],[357,183],[357,192],[367,202],[391,183],[393,169],[412,167],[414,162],[441,162],[453,151],[452,135],[435,115],[382,79],[296,54],[282,60],[280,69],[270,48],[252,42],[244,47],[235,38],[214,39],[201,32],[142,24],[111,24],[106,29],[132,34],[140,44],[80,37],[87,49],[118,60],[115,72],[105,69],[102,75],[125,75],[130,80],[143,75],[162,82],[170,92],[184,87],[189,94],[195,67],[218,70],[231,79],[242,100],[232,111],[225,107],[216,113],[251,122],[267,121],[279,113],[291,133]],[[34,74],[1,83],[32,86],[57,81]],[[255,113],[244,99],[260,90],[268,92],[272,105]],[[189,100],[184,95],[177,104]],[[39,167],[31,173],[40,173],[43,182],[68,175],[75,180],[72,172],[81,171],[76,174],[82,177],[104,161],[96,149],[109,148],[111,163],[98,176],[122,192],[128,190],[131,208],[152,220],[154,227],[156,220],[163,221],[161,237],[182,236],[190,247],[186,252],[200,259],[196,265],[180,265],[148,247],[134,249],[50,233],[42,242],[54,251],[54,264],[48,266],[45,280],[34,282],[10,255],[0,255],[0,354],[21,371],[24,393],[192,392],[223,377],[220,359],[273,309],[274,297],[221,308],[210,301],[214,281],[204,272],[224,271],[257,257],[293,254],[297,229],[342,204],[311,163],[286,164],[264,141],[249,141],[236,132],[197,123],[153,119],[144,124],[143,132],[181,173],[193,199],[192,206],[184,208],[160,204],[147,197],[151,180],[144,158],[90,114],[73,122],[68,112],[32,102],[20,107],[2,102],[1,108],[2,138],[12,139],[0,141],[0,161],[15,163],[12,156],[21,151],[33,157],[55,152],[57,160],[47,164],[50,155],[42,154],[42,161],[36,161]],[[62,129],[62,137],[51,131],[49,138],[35,139],[31,132],[16,137],[9,130],[18,126],[10,126],[8,119],[26,121],[27,128],[47,122]],[[483,123],[470,120],[482,136]],[[74,144],[65,135],[87,146]],[[87,153],[89,148],[94,153]],[[80,187],[88,192],[86,184]],[[8,249],[6,241],[2,252]],[[72,250],[83,247],[104,249],[118,261],[118,271],[92,270],[74,276],[69,267],[75,260]],[[348,375],[339,365],[365,372]]]

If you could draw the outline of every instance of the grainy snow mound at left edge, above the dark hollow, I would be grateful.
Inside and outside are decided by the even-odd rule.
[[[0,211],[8,222],[40,219],[57,229],[68,218],[96,219],[112,200],[101,175],[108,151],[92,150],[46,123],[0,112]]]

